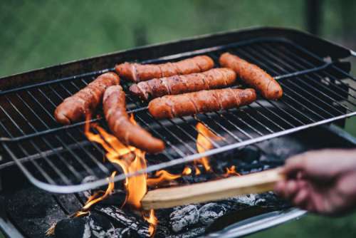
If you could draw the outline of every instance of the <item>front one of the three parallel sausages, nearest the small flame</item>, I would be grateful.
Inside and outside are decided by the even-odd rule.
[[[248,105],[254,100],[256,100],[256,92],[252,88],[201,90],[194,93],[155,98],[148,104],[148,110],[158,119],[176,118],[183,115],[236,108]]]

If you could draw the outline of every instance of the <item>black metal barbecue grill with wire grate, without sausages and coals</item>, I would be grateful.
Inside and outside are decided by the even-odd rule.
[[[248,29],[145,46],[1,78],[0,168],[7,177],[6,181],[14,179],[13,172],[19,169],[34,186],[57,194],[83,192],[107,185],[107,178],[117,167],[104,162],[105,150],[85,137],[85,122],[64,126],[56,123],[53,118],[56,106],[101,73],[113,71],[115,63],[164,63],[206,54],[218,66],[219,56],[226,51],[270,73],[281,83],[283,98],[273,101],[258,95],[255,103],[242,108],[156,120],[147,112],[147,103],[130,95],[127,90],[130,83],[123,82],[128,112],[134,113],[137,123],[167,145],[166,150],[158,155],[146,155],[147,172],[163,168],[174,170],[206,156],[213,161],[216,158],[224,160],[234,156],[234,152],[241,148],[258,146],[281,136],[286,138],[291,133],[306,129],[307,132],[326,135],[326,138],[320,137],[323,143],[317,148],[355,145],[352,138],[345,136],[345,132],[315,127],[330,123],[342,126],[345,118],[356,115],[356,78],[349,73],[350,63],[343,60],[356,56],[356,53],[300,31]],[[101,112],[90,122],[108,129]],[[197,123],[222,138],[211,140],[211,150],[197,151]],[[310,136],[310,133],[303,133],[303,138]],[[328,137],[330,143],[325,142]],[[278,141],[281,143],[281,140]],[[316,142],[309,143],[313,145]],[[264,169],[261,164],[256,167]],[[237,167],[241,173],[251,172],[252,169],[253,165]],[[114,181],[142,172],[146,171],[129,175],[118,172]],[[89,176],[94,179],[83,182]],[[19,180],[23,182],[21,175]],[[229,230],[234,232],[226,233],[226,237],[255,232],[257,227],[263,229],[278,224],[278,220],[285,222],[301,214],[303,211],[295,209],[284,213],[269,212],[267,217],[266,214],[260,215],[254,221],[239,223],[238,228],[230,227]],[[269,223],[262,225],[263,219]],[[255,226],[246,228],[248,224]],[[9,229],[4,228],[4,223],[2,225],[3,229]],[[239,229],[243,231],[239,233]],[[211,232],[211,236],[214,234],[222,233]]]

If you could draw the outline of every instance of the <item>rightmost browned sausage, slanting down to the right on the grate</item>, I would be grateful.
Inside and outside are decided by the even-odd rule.
[[[258,90],[264,98],[276,100],[282,97],[283,90],[279,83],[258,66],[231,53],[223,53],[219,63],[233,69],[242,81]]]

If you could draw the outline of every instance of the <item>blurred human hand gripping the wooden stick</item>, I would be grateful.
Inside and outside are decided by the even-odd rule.
[[[320,214],[356,207],[356,150],[315,150],[295,155],[282,169],[275,191],[293,205]]]

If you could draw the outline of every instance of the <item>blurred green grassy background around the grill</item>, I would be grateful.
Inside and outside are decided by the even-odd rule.
[[[251,26],[309,31],[356,50],[355,0],[0,1],[0,77]],[[356,61],[353,74],[356,74]],[[347,120],[356,135],[356,120]],[[356,215],[308,215],[252,237],[356,237]]]

